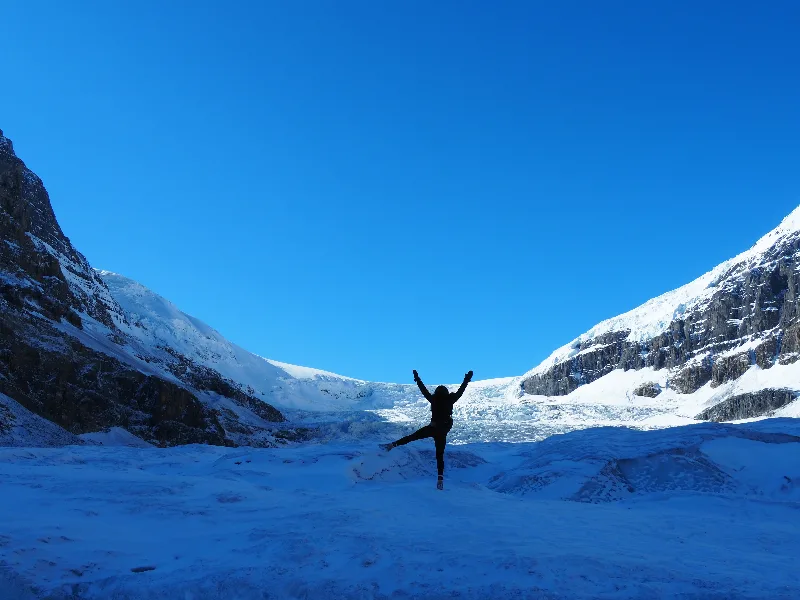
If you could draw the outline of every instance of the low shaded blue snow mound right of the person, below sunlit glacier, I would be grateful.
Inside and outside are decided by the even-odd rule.
[[[540,442],[496,491],[604,503],[654,494],[712,493],[800,500],[800,424],[702,423],[678,429],[598,428]]]

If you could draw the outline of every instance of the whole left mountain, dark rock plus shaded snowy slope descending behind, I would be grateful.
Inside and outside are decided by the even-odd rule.
[[[0,429],[30,411],[73,435],[123,427],[160,445],[274,445],[301,434],[272,401],[343,408],[372,391],[252,355],[93,269],[0,131]]]

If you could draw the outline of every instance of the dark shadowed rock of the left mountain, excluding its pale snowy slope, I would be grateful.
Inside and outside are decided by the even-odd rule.
[[[106,328],[109,353],[67,333],[69,326],[85,328],[87,319]],[[228,431],[251,429],[201,399],[210,395],[256,421],[285,420],[177,352],[161,365],[166,376],[137,369],[143,357],[120,360],[123,322],[124,310],[61,231],[42,181],[0,131],[0,393],[72,433],[120,426],[159,445],[233,445]]]

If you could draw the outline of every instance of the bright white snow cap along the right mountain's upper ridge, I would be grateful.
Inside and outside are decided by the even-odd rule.
[[[764,253],[775,244],[782,239],[797,235],[798,232],[800,232],[800,207],[792,211],[778,227],[759,239],[749,250],[725,261],[691,283],[648,300],[631,311],[598,323],[586,333],[555,350],[523,378],[544,373],[552,366],[569,360],[580,351],[582,344],[606,333],[629,331],[627,339],[630,341],[654,338],[666,331],[675,319],[708,302],[721,278],[732,271],[746,271],[751,265],[761,262]]]

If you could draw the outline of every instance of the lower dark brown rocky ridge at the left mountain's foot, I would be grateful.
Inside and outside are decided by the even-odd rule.
[[[226,445],[216,415],[175,383],[68,336],[43,339],[46,330],[5,316],[0,327],[0,393],[67,431],[120,426],[154,444]]]

